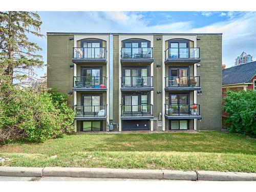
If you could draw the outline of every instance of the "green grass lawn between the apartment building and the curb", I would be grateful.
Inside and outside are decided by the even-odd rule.
[[[50,157],[57,155],[57,158]],[[0,147],[6,166],[256,172],[256,140],[220,132],[88,134]]]

